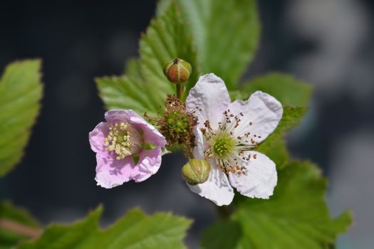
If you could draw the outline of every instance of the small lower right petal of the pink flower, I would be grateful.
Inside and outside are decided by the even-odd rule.
[[[157,147],[151,150],[142,150],[140,159],[135,166],[131,177],[136,182],[145,181],[155,174],[161,165],[161,148]]]

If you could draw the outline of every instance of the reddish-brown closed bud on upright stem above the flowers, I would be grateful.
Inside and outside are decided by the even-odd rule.
[[[164,65],[164,74],[172,83],[184,83],[188,80],[191,71],[191,65],[179,58],[175,58]]]

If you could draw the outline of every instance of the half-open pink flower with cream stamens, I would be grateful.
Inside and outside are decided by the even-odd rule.
[[[130,180],[144,181],[160,169],[166,140],[155,127],[133,110],[110,110],[105,120],[89,134],[99,186],[110,189]]]

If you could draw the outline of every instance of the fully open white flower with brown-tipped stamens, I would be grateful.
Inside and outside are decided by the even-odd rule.
[[[207,181],[187,184],[189,189],[218,206],[232,202],[232,186],[244,196],[269,198],[276,186],[276,166],[254,150],[279,124],[281,103],[260,91],[246,101],[231,102],[223,80],[210,73],[189,90],[186,108],[199,120],[194,157],[212,165]]]

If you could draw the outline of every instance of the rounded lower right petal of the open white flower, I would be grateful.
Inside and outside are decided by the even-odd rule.
[[[246,174],[229,173],[229,181],[244,196],[269,198],[269,196],[273,195],[274,187],[278,180],[274,161],[259,152],[250,153],[256,154],[256,159],[251,158],[249,161],[241,160],[239,162],[239,164],[246,167]]]

